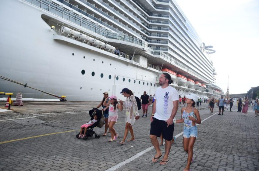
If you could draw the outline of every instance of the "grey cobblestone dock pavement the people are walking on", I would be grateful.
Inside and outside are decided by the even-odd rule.
[[[51,110],[48,103],[53,105]],[[97,103],[90,103],[87,108],[75,102],[74,106],[56,109],[53,103],[57,102],[48,103],[45,110],[35,106],[30,107],[30,111],[0,113],[0,170],[107,170],[152,147],[149,139],[151,107],[148,117],[140,117],[133,126],[136,141],[120,145],[125,129],[124,110],[118,113],[119,119],[114,126],[119,133],[116,141],[108,142],[109,134],[100,139],[89,137],[85,141],[77,139],[76,134],[90,119],[86,111]],[[205,106],[207,104],[199,107],[201,120],[211,116]],[[215,114],[198,125],[192,170],[259,170],[259,117],[255,117],[252,108],[249,108],[248,116],[236,112],[236,105],[232,110],[224,115]],[[139,112],[142,115],[142,111]],[[179,107],[176,118],[180,116]],[[94,131],[102,135],[104,127],[96,127]],[[183,124],[176,124],[174,135],[182,131]],[[155,155],[153,148],[116,170],[183,170],[187,155],[182,141],[182,135],[176,138],[167,165],[151,162]],[[161,149],[164,154],[165,146]]]

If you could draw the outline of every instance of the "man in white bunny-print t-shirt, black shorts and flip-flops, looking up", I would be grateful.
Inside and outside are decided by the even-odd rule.
[[[165,139],[165,155],[160,162],[161,165],[165,165],[169,161],[168,155],[174,133],[173,119],[178,110],[178,92],[169,85],[171,83],[172,80],[169,74],[163,73],[159,77],[161,87],[156,89],[151,114],[150,139],[157,152],[154,158],[152,158],[152,162],[157,162],[162,156],[157,137],[160,137],[162,134]]]

